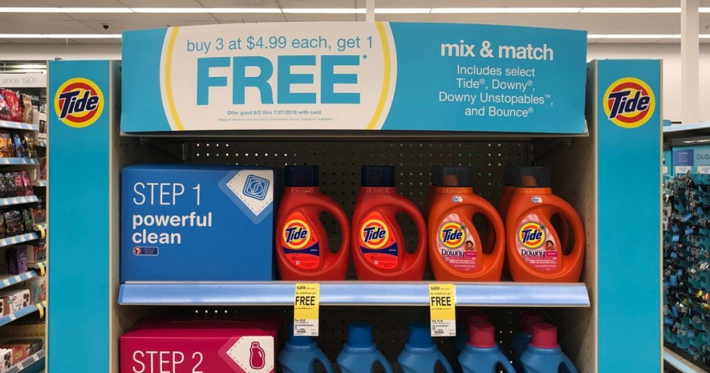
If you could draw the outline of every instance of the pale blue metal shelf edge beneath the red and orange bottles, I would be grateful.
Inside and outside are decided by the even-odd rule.
[[[119,304],[135,306],[288,306],[295,283],[129,282]],[[429,283],[320,283],[322,306],[429,306]],[[457,283],[457,306],[589,307],[584,283]]]

